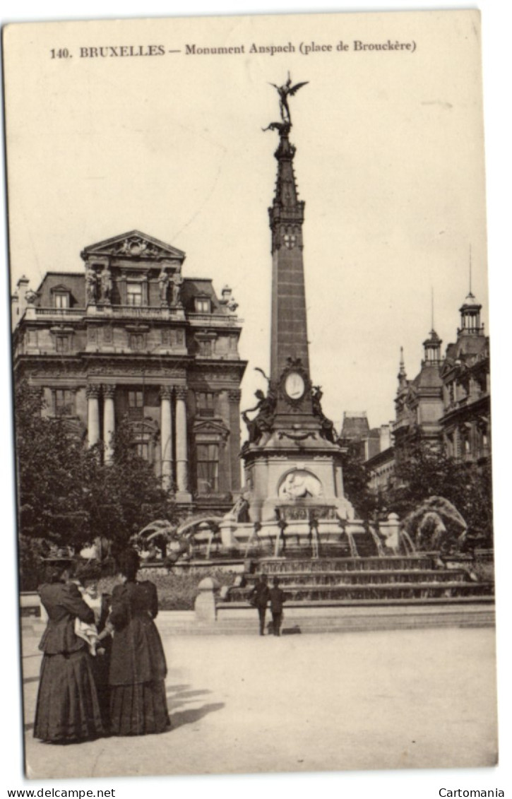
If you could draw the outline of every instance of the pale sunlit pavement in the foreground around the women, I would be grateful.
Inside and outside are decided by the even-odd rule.
[[[491,766],[494,630],[164,634],[173,728],[49,745],[32,737],[38,637],[24,634],[34,779]]]

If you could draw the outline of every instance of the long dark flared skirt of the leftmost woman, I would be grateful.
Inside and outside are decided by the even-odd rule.
[[[65,744],[104,733],[89,661],[85,649],[43,656],[34,737]]]

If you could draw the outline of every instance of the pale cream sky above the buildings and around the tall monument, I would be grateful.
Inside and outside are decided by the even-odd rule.
[[[106,27],[105,27],[106,26]],[[359,52],[355,40],[415,42]],[[163,42],[158,58],[81,48]],[[292,43],[295,52],[250,54]],[[300,42],[331,45],[301,52]],[[340,42],[348,44],[348,50]],[[51,58],[65,43],[72,58]],[[188,55],[187,44],[244,54]],[[187,254],[185,276],[229,284],[244,320],[242,407],[268,370],[270,232],[288,70],[312,381],[339,426],[394,415],[403,346],[410,378],[434,324],[443,348],[472,288],[488,327],[478,14],[377,14],[51,23],[6,30],[10,263],[33,288],[81,271],[81,249],[132,229]],[[333,368],[334,366],[334,368]]]

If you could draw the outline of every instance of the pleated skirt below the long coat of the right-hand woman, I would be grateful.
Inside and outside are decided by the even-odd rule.
[[[170,726],[163,680],[110,686],[110,732],[113,735],[164,733]]]

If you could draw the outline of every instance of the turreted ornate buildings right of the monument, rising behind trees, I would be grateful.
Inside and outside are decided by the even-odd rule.
[[[356,419],[352,415],[343,419],[344,435],[352,439],[360,436],[361,452],[369,453],[365,460],[370,485],[376,492],[391,485],[396,461],[418,435],[433,447],[443,447],[456,460],[481,464],[490,458],[489,337],[480,322],[481,309],[470,292],[459,309],[457,340],[448,344],[444,358],[442,341],[431,330],[423,342],[424,357],[413,380],[407,380],[401,350],[395,421],[391,423],[391,437],[381,437],[377,451],[375,443],[371,447],[367,444],[371,431],[365,413],[356,415]]]

